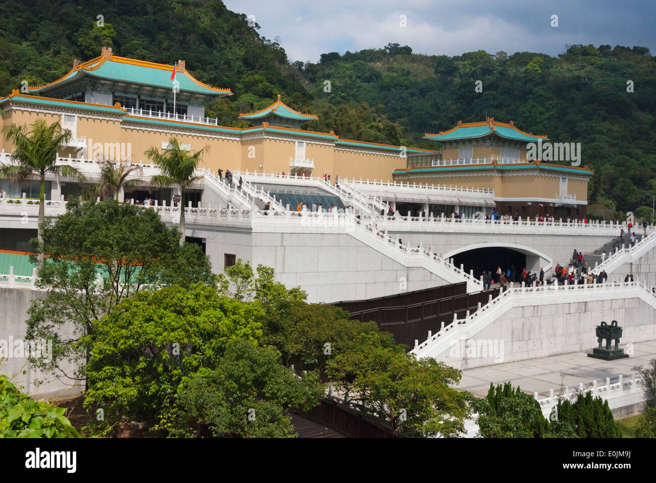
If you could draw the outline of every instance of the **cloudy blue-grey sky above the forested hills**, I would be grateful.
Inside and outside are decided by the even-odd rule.
[[[656,53],[656,0],[224,0],[255,15],[260,35],[279,36],[289,60],[388,43],[414,53],[460,55],[483,49],[556,56],[565,45],[649,47]],[[552,27],[552,15],[558,26]],[[405,16],[406,26],[401,26]]]

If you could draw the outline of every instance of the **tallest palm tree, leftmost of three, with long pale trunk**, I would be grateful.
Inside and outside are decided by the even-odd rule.
[[[45,177],[47,174],[62,175],[83,182],[85,177],[77,168],[58,166],[57,152],[72,137],[71,131],[62,131],[60,123],[48,125],[45,119],[38,119],[30,125],[19,126],[11,123],[3,129],[6,139],[14,145],[11,164],[0,165],[0,178],[10,179],[24,184],[27,180],[38,179],[41,182],[39,195],[39,227],[37,238],[41,239],[41,223],[45,219]],[[43,262],[43,253],[39,254],[39,264]]]

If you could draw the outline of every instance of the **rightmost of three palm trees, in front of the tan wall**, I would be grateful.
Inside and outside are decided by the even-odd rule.
[[[202,161],[201,156],[208,152],[210,146],[194,152],[180,149],[180,143],[176,138],[169,139],[169,147],[163,152],[159,152],[155,146],[144,152],[155,164],[159,165],[161,175],[155,175],[152,178],[154,186],[178,186],[180,188],[180,245],[184,243],[184,193],[190,189],[190,186],[201,179],[202,176],[196,176],[195,170],[198,162]]]

